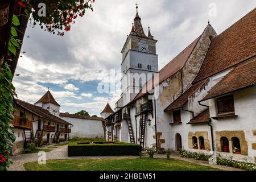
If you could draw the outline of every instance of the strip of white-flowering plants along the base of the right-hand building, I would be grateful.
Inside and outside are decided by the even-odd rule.
[[[205,160],[205,161],[208,161],[209,158],[212,156],[212,155],[205,155],[203,153],[190,152],[186,150],[180,150],[178,152],[178,155],[180,155],[183,158],[193,158],[196,160]],[[233,160],[232,158],[223,158],[220,155],[217,156],[217,164],[223,165],[223,166],[240,168],[247,171],[256,171],[256,164],[254,163]]]

